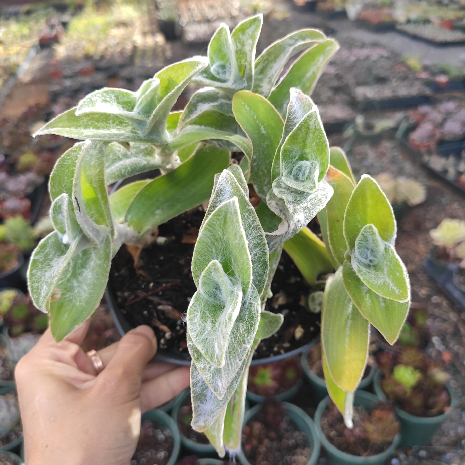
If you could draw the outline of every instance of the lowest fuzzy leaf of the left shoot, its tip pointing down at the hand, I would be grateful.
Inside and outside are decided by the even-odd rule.
[[[111,239],[73,255],[55,283],[48,303],[50,329],[57,342],[86,321],[99,306],[111,266]]]

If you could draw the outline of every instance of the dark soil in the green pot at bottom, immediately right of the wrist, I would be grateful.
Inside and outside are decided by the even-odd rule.
[[[173,433],[151,421],[142,422],[131,465],[166,465],[174,448]]]

